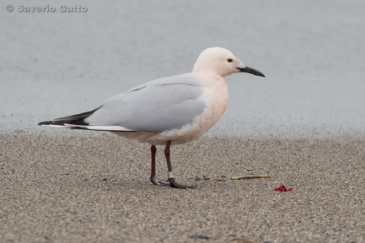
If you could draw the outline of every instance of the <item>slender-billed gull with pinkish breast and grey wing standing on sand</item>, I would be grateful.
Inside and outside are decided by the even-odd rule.
[[[175,182],[170,145],[198,139],[217,123],[228,102],[225,76],[248,72],[265,75],[242,64],[232,52],[220,47],[205,49],[192,72],[156,79],[111,97],[98,108],[42,126],[110,131],[121,137],[151,144],[151,176],[155,185],[193,188]],[[166,145],[169,183],[156,179],[156,145]]]

